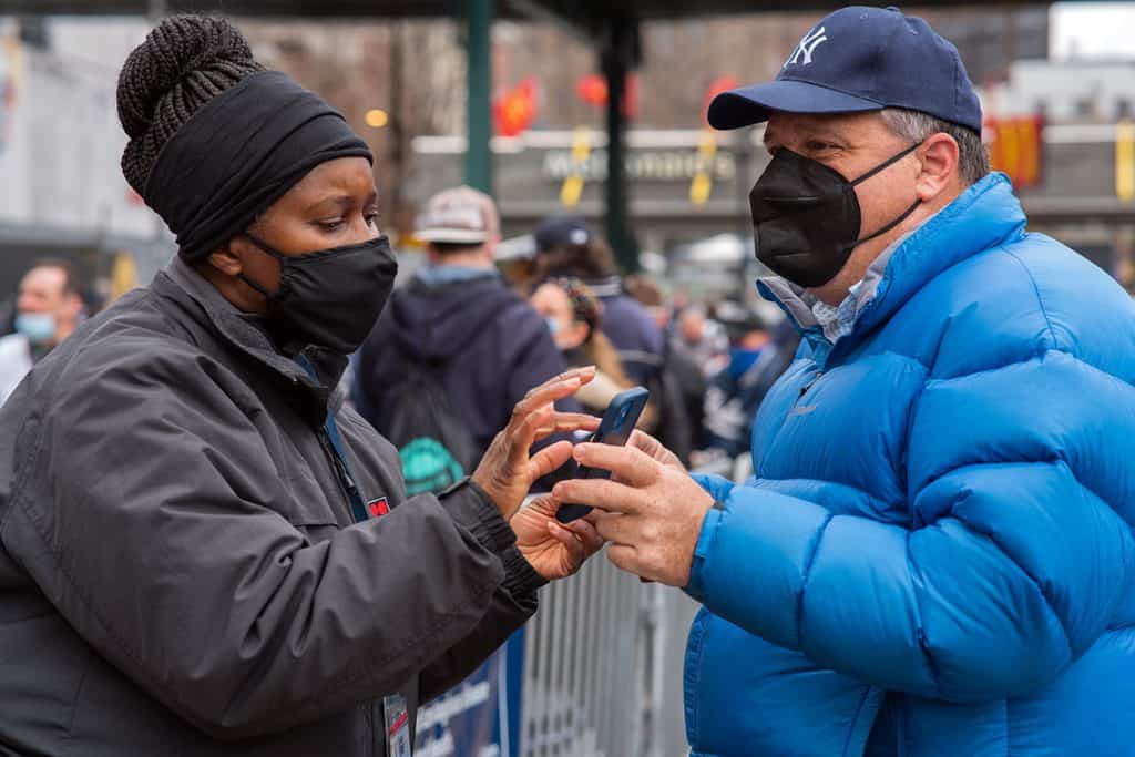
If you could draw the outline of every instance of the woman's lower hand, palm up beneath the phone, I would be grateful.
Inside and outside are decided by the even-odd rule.
[[[590,515],[558,523],[556,506],[552,497],[539,497],[508,521],[516,535],[520,554],[548,581],[574,574],[588,557],[603,548],[603,537],[595,530]]]

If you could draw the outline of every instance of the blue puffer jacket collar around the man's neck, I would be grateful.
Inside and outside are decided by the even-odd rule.
[[[1004,174],[991,174],[911,232],[894,246],[871,286],[857,289],[856,322],[841,339],[851,343],[888,320],[922,287],[947,269],[985,250],[1019,238],[1025,212]],[[877,262],[877,261],[876,261]],[[865,279],[866,283],[866,279]],[[817,346],[823,334],[799,291],[783,279],[757,283],[762,296],[788,313],[797,329]],[[831,345],[827,345],[829,348]],[[826,350],[824,350],[826,352]]]

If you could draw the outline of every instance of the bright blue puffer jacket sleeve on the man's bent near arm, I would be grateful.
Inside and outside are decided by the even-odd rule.
[[[928,381],[910,426],[911,528],[705,481],[724,507],[688,590],[890,690],[1035,690],[1095,642],[1133,578],[1135,389],[1048,351]]]

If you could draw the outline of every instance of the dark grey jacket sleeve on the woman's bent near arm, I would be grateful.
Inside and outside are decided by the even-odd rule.
[[[87,642],[215,738],[393,692],[476,638],[502,592],[535,589],[470,488],[311,542],[224,369],[106,362],[25,424],[0,538]]]

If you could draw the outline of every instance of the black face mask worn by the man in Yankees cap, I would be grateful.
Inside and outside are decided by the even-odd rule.
[[[757,259],[779,276],[802,287],[831,281],[856,245],[886,234],[922,204],[874,234],[863,230],[855,187],[917,150],[911,145],[855,180],[801,154],[781,148],[749,193]]]

